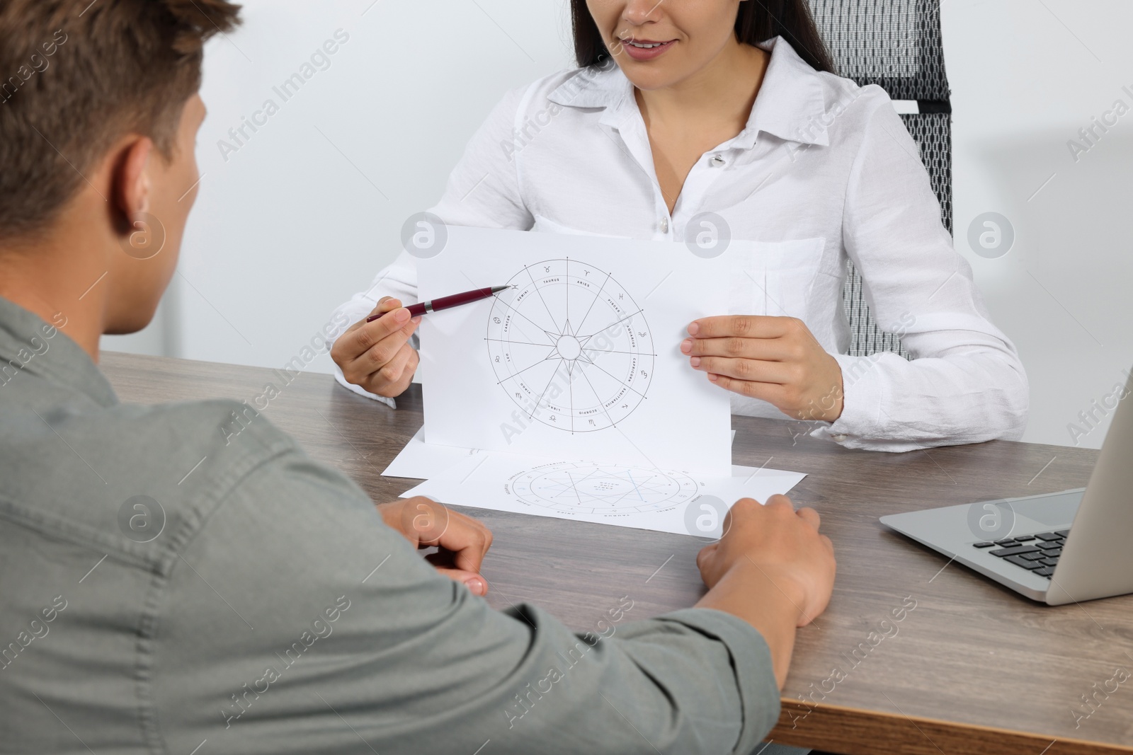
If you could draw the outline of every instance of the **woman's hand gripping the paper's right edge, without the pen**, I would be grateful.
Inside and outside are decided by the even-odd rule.
[[[842,415],[842,368],[794,317],[731,315],[689,325],[681,343],[716,385],[774,404],[800,420]]]

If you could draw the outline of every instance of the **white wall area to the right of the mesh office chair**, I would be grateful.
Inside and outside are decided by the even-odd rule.
[[[1079,412],[1133,367],[1133,111],[1077,162],[1067,148],[1116,100],[1133,108],[1133,3],[946,0],[942,16],[956,249],[1026,367],[1024,439],[1073,445],[1067,424],[1088,430]],[[1003,257],[969,247],[969,224],[985,212],[1015,229]],[[1107,427],[1108,418],[1076,439],[1096,448]]]

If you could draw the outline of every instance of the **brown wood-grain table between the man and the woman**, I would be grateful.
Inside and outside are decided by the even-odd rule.
[[[284,385],[274,370],[112,353],[103,369],[128,402],[250,403],[272,383],[282,393],[265,415],[313,457],[378,501],[416,484],[381,477],[423,422],[416,387],[394,411],[325,375]],[[792,498],[819,511],[838,558],[829,609],[799,632],[775,741],[845,755],[1133,753],[1133,679],[1116,692],[1110,681],[1118,668],[1133,672],[1133,597],[1039,606],[877,521],[1082,487],[1097,452],[994,441],[880,454],[794,437],[789,421],[733,423],[735,463],[809,474]],[[692,538],[462,511],[495,533],[484,566],[493,606],[537,602],[586,630],[623,595],[633,600],[629,617],[646,618],[702,594]],[[1075,711],[1090,713],[1076,728]]]

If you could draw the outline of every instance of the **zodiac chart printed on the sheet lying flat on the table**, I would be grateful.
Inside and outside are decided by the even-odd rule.
[[[699,495],[683,472],[555,462],[512,477],[512,495],[525,504],[568,514],[645,514],[667,511]]]

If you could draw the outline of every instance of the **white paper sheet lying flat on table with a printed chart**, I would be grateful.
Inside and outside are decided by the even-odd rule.
[[[484,452],[401,497],[427,496],[458,506],[715,539],[722,533],[727,508],[738,499],[766,501],[806,477],[750,466],[731,470],[732,477],[715,478]]]

